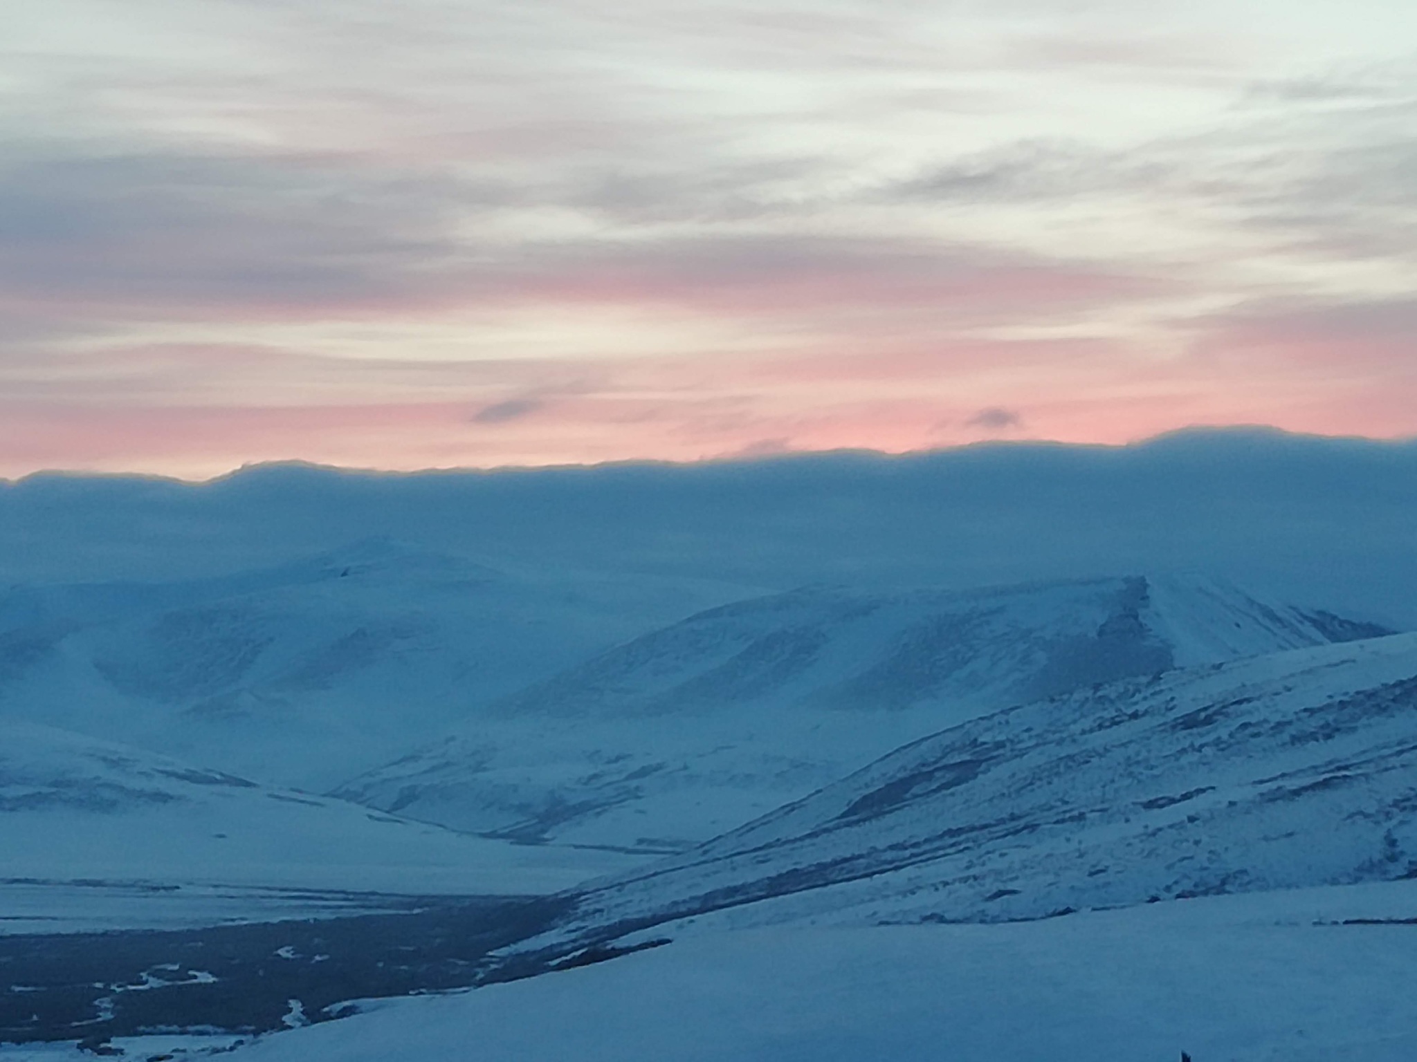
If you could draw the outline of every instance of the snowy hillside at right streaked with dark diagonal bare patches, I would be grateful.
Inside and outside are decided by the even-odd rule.
[[[587,893],[575,935],[1003,920],[1417,874],[1417,636],[1132,678],[925,738]]]

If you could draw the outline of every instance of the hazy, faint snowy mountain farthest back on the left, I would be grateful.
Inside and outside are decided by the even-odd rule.
[[[0,588],[0,718],[322,790],[741,589],[387,539],[184,581]]]

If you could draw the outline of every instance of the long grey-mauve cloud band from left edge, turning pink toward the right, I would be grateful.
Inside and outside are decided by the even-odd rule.
[[[622,219],[635,210],[708,214],[723,224],[536,238],[520,235],[530,193],[487,177],[359,157],[28,142],[0,163],[0,309],[41,331],[45,320],[242,324],[540,303],[748,317],[915,306],[1024,319],[1159,287],[1105,262],[988,244],[724,221],[757,224],[774,210],[760,184],[796,173],[795,163],[738,176],[730,167],[701,178],[708,191],[666,177],[667,190],[643,197],[636,190],[653,184],[646,177],[612,191],[599,177],[563,181],[563,207]]]

